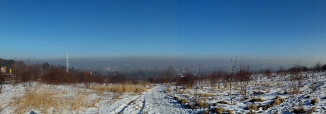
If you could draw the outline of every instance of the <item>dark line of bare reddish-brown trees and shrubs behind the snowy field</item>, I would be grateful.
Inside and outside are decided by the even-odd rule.
[[[204,82],[210,82],[212,87],[220,86],[219,83],[227,84],[228,80],[243,81],[250,80],[250,75],[253,72],[250,70],[249,64],[239,63],[233,69],[234,72],[211,71],[208,73],[192,73],[191,71],[184,74],[178,74],[174,67],[166,69],[152,69],[152,70],[135,70],[132,72],[116,72],[100,75],[94,73],[91,75],[88,72],[79,71],[71,68],[70,72],[65,71],[65,66],[53,66],[48,63],[37,63],[33,65],[26,65],[22,61],[3,60],[7,69],[12,69],[12,74],[2,73],[0,76],[0,83],[10,82],[14,86],[17,83],[31,83],[31,81],[41,81],[50,84],[71,84],[71,83],[85,83],[88,86],[90,83],[124,83],[127,81],[150,81],[152,83],[176,83],[177,85],[184,85],[193,87]],[[308,68],[302,65],[294,65],[287,70],[280,69],[277,72],[294,72],[294,71],[320,71],[326,70],[326,64],[321,65],[317,62],[314,67]],[[265,69],[264,74],[269,76],[273,71]],[[7,71],[8,73],[8,71]]]

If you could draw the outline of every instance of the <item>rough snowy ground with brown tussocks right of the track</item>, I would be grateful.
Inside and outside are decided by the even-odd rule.
[[[225,113],[227,113],[227,110],[232,110],[233,113],[292,113],[294,108],[298,108],[302,105],[306,111],[314,107],[315,110],[312,113],[326,113],[325,74],[325,72],[303,73],[303,75],[307,75],[308,78],[302,83],[303,87],[300,90],[301,93],[298,94],[284,94],[284,90],[287,92],[291,90],[291,85],[289,80],[284,81],[284,78],[280,75],[273,74],[275,76],[271,77],[254,75],[254,79],[256,80],[250,82],[247,90],[249,99],[241,100],[242,97],[239,95],[239,90],[236,88],[232,89],[232,93],[234,94],[234,105],[217,103],[219,101],[231,103],[231,98],[228,95],[229,89],[224,88],[222,84],[220,85],[220,88],[216,87],[215,90],[210,88],[209,82],[202,83],[202,86],[197,87],[197,89],[182,89],[182,87],[178,87],[179,90],[175,91],[175,86],[171,86],[168,94],[179,99],[187,99],[187,103],[184,105],[186,107],[192,105],[193,108],[195,108],[194,110],[197,110],[197,112],[205,112],[207,110],[210,113],[214,113],[213,110],[215,108],[222,107],[225,109]],[[285,78],[288,78],[288,76],[289,75],[285,75]],[[259,97],[258,94],[254,94],[254,92],[259,92],[259,87],[262,93],[260,98],[265,101],[250,102],[251,99]],[[284,102],[264,110],[263,106],[271,104],[276,96],[284,98]],[[318,103],[311,104],[311,100],[313,99],[317,99]],[[196,107],[196,102],[198,101],[208,103],[209,107]],[[251,104],[257,105],[258,110],[248,110],[247,106]]]

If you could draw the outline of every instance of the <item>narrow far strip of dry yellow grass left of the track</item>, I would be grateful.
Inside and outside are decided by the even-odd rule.
[[[135,92],[141,93],[146,92],[146,85],[143,84],[113,84],[110,86],[92,86],[92,90],[95,90],[97,93],[102,94],[103,92],[116,92],[116,93],[125,93],[125,92]]]

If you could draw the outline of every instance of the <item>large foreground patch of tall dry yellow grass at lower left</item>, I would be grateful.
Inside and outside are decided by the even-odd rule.
[[[77,95],[62,96],[62,92],[48,90],[46,88],[33,87],[25,90],[22,97],[12,99],[9,106],[16,107],[15,113],[25,113],[30,108],[40,110],[42,113],[48,113],[47,110],[53,109],[57,113],[63,110],[82,110],[79,108],[89,107],[88,97],[82,93]]]

